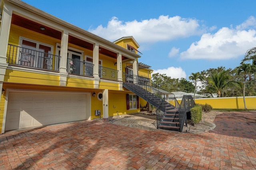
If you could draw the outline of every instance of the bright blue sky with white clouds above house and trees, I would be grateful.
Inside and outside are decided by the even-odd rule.
[[[23,1],[109,41],[132,35],[139,62],[172,78],[233,69],[256,47],[255,0]]]

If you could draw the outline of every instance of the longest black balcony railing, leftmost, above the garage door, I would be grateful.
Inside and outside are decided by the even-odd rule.
[[[7,63],[58,71],[60,56],[8,44]]]

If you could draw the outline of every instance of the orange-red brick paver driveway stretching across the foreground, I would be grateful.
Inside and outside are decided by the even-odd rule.
[[[256,140],[80,121],[0,135],[0,169],[253,170]]]

